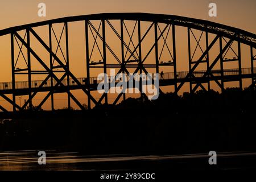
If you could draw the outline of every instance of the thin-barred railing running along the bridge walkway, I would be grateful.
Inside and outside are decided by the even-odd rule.
[[[188,75],[188,71],[184,72],[177,72],[177,78],[185,78]],[[197,78],[203,77],[205,71],[194,71],[193,75]],[[221,76],[221,71],[220,70],[213,70],[211,71],[213,76]],[[256,68],[253,68],[253,73],[256,73]],[[251,74],[251,68],[242,68],[242,75],[250,75]],[[239,69],[225,69],[223,72],[224,76],[236,76],[239,75]],[[152,74],[152,77],[155,77],[155,74]],[[129,76],[126,75],[126,80],[128,80]],[[174,73],[173,72],[168,72],[168,73],[163,73],[163,76],[161,77],[159,75],[160,80],[171,80],[174,79]],[[108,78],[109,81],[111,78]],[[82,85],[86,85],[87,78],[77,78],[77,80],[80,81]],[[100,82],[104,81],[104,77],[102,77],[100,80],[97,79],[97,77],[90,77],[89,78],[90,84],[99,84]],[[120,80],[119,80],[120,81]],[[38,88],[42,84],[43,80],[34,80],[31,81],[31,88]],[[116,80],[115,82],[118,82]],[[56,85],[57,81],[53,80],[53,85]],[[62,81],[62,84],[67,86],[68,85],[68,80],[64,79]],[[74,80],[69,80],[69,85],[74,86],[77,85]],[[44,85],[43,88],[47,88],[51,86],[51,80],[48,80]],[[15,82],[15,89],[27,89],[28,88],[28,81],[16,81]],[[12,82],[0,82],[0,90],[11,90],[13,89]]]

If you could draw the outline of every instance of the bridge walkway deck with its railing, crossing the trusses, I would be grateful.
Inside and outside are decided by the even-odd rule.
[[[224,81],[237,81],[240,78],[256,78],[256,68],[253,68],[253,74],[251,73],[251,68],[242,68],[242,75],[240,77],[239,75],[239,69],[225,69],[223,72],[223,77],[221,77],[221,72],[220,70],[213,70],[211,71],[212,75],[214,77],[203,77],[205,71],[195,71],[193,73],[194,77],[193,78],[185,78],[188,75],[188,71],[184,72],[177,72],[177,79],[175,81],[174,78],[174,73],[173,72],[168,72],[164,73],[163,77],[161,78],[159,75],[159,86],[168,86],[168,85],[174,85],[175,82],[208,82],[213,81],[213,80],[221,80],[221,78]],[[154,74],[152,74],[154,77]],[[86,87],[86,78],[77,78],[82,86]],[[31,91],[35,92],[49,92],[52,90],[51,88],[51,80],[49,79],[46,84],[38,90],[38,87],[40,84],[42,84],[43,80],[35,80],[31,82]],[[101,80],[97,80],[97,77],[90,77],[90,89],[91,90],[97,90],[98,84],[101,82]],[[53,80],[53,85],[55,85],[57,82]],[[68,80],[64,79],[62,81],[63,85],[65,86],[55,86],[53,90],[55,90],[55,93],[61,93],[67,91],[67,85],[68,85]],[[117,81],[115,82],[117,83]],[[69,82],[69,89],[71,90],[76,90],[76,89],[81,89],[80,85],[77,85],[75,81],[70,80]],[[15,82],[15,90],[12,89],[12,82],[1,82],[0,83],[0,93],[2,94],[12,94],[15,92],[16,96],[22,96],[22,95],[27,95],[29,90],[28,90],[28,81],[16,81]]]

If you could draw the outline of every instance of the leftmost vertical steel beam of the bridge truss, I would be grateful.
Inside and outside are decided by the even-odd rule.
[[[15,98],[15,63],[14,63],[14,34],[11,33],[11,77],[13,89],[13,111],[16,111],[16,98]]]

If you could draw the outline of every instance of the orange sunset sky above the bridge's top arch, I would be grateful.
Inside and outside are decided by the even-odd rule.
[[[37,16],[40,2],[46,3],[47,6],[45,18]],[[208,16],[210,2],[217,4],[217,17]],[[0,29],[64,16],[118,12],[172,14],[210,20],[250,32],[255,32],[256,29],[256,1],[254,0],[10,0],[1,1],[0,5]]]

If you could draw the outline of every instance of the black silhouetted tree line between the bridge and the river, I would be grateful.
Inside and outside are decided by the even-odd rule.
[[[19,113],[0,124],[0,150],[181,154],[255,151],[255,89],[127,98],[92,110]]]

